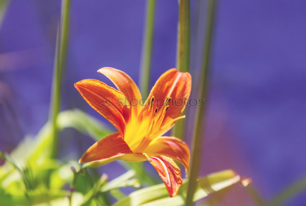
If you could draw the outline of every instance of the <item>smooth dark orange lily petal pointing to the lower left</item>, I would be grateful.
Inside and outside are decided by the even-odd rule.
[[[79,163],[92,161],[111,162],[111,159],[132,154],[133,152],[123,140],[120,132],[112,133],[93,144],[81,157]]]

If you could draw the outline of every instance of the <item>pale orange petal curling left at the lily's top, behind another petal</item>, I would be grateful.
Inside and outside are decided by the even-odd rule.
[[[103,67],[99,69],[98,72],[104,74],[114,83],[117,89],[129,99],[129,103],[130,105],[133,105],[133,109],[139,107],[141,94],[137,85],[129,75],[119,69],[111,67]]]

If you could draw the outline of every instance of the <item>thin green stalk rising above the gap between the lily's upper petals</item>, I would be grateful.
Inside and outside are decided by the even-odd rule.
[[[146,20],[144,24],[144,39],[141,52],[139,85],[143,97],[148,96],[152,57],[153,27],[155,0],[147,0]]]

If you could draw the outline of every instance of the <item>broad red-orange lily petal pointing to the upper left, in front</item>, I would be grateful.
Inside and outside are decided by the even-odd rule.
[[[125,95],[96,79],[84,79],[74,84],[87,103],[112,123],[122,134],[130,118]]]

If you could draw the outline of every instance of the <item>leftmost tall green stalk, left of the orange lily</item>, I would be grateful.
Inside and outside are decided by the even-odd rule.
[[[58,149],[58,127],[56,119],[60,111],[62,72],[65,67],[68,46],[70,0],[62,0],[61,21],[56,39],[54,70],[52,80],[52,94],[50,101],[49,119],[52,125],[51,157],[56,158]]]

